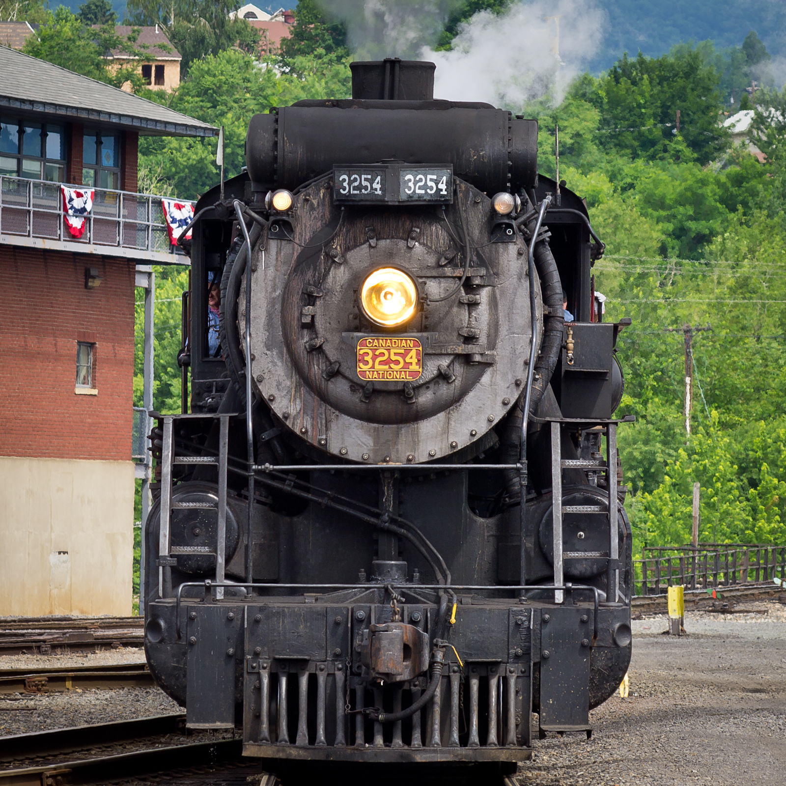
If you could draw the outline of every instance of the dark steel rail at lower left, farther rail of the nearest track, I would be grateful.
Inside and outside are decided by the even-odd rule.
[[[114,721],[46,732],[13,734],[0,737],[0,762],[12,762],[31,755],[38,758],[82,751],[95,745],[129,742],[181,730],[185,733],[185,714],[174,713],[156,715],[152,718],[134,718],[132,721]]]

